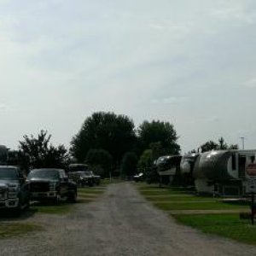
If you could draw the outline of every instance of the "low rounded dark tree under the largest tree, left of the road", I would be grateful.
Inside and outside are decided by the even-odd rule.
[[[104,149],[90,149],[86,154],[86,163],[102,177],[107,177],[111,171],[112,157]]]

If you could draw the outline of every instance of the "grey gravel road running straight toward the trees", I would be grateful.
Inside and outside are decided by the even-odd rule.
[[[22,220],[46,227],[0,241],[0,255],[256,255],[256,247],[207,236],[176,224],[145,201],[131,183],[111,184],[102,197],[65,216]]]

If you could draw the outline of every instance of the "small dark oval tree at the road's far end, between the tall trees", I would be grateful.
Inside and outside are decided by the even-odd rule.
[[[124,176],[133,176],[137,173],[137,155],[127,152],[121,162],[121,173]]]

